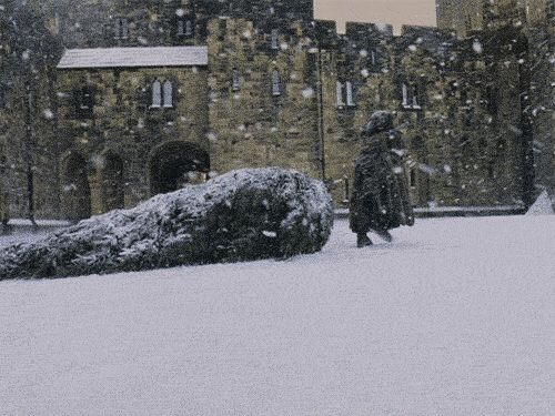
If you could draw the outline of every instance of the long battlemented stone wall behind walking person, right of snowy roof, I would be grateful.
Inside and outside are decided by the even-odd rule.
[[[416,205],[522,203],[518,75],[508,68],[496,78],[500,68],[474,42],[487,43],[415,27],[394,38],[390,27],[361,23],[339,35],[333,24],[316,22],[314,32],[301,23],[280,32],[272,50],[252,22],[213,20],[213,166],[292,166],[324,179],[336,204],[346,205],[361,130],[373,111],[390,110],[410,151]],[[403,84],[417,90],[416,103],[403,103]]]

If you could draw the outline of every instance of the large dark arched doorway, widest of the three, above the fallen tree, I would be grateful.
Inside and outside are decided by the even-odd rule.
[[[152,195],[168,193],[192,182],[192,173],[208,173],[210,156],[199,146],[186,142],[169,142],[158,148],[150,159]]]

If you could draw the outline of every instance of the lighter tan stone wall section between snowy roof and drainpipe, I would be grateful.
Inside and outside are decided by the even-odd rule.
[[[249,21],[212,20],[209,48],[213,169],[281,165],[321,177],[316,55],[302,26],[272,48]]]

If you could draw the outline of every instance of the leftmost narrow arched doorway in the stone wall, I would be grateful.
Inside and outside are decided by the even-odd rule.
[[[91,216],[91,189],[87,161],[78,153],[71,153],[62,171],[63,216],[79,221]]]

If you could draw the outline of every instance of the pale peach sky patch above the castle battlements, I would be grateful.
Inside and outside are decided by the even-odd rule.
[[[435,0],[314,0],[317,19],[435,26]]]

